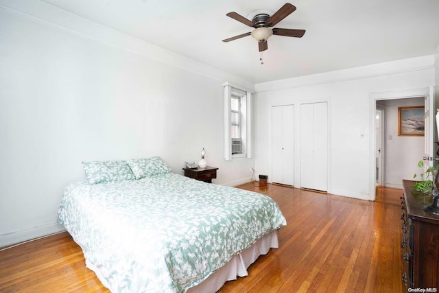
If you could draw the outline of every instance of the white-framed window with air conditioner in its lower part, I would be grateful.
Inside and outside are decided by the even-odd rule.
[[[224,159],[251,158],[252,93],[224,85]]]

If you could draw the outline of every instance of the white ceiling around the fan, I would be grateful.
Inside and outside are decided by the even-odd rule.
[[[433,55],[439,45],[438,0],[294,0],[275,25],[307,30],[272,36],[259,61],[250,32],[230,19],[276,11],[285,0],[43,0],[254,83]]]

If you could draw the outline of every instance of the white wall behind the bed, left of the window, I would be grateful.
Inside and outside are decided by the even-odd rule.
[[[252,84],[48,7],[71,28],[0,5],[0,246],[62,229],[84,160],[158,155],[182,174],[205,148],[215,183],[250,180],[252,159],[223,159],[222,82]]]

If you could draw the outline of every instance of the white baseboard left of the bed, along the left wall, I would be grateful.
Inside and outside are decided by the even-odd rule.
[[[0,249],[32,239],[60,233],[62,231],[65,231],[64,227],[60,224],[54,223],[0,235]]]

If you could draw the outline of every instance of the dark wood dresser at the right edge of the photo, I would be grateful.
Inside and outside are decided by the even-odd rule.
[[[439,215],[424,211],[433,198],[414,191],[414,183],[416,181],[403,180],[404,196],[401,196],[403,289],[405,292],[414,292],[416,288],[438,292]]]

